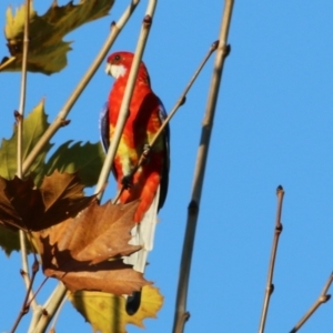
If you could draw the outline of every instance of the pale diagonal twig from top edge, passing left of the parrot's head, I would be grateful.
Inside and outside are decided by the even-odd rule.
[[[137,8],[140,0],[132,0],[129,7],[125,9],[119,21],[115,23],[113,22],[111,26],[111,32],[105,40],[103,47],[101,48],[99,54],[92,62],[91,67],[88,69],[87,73],[83,75],[81,81],[79,82],[78,87],[74,89],[74,91],[70,94],[68,101],[64,103],[63,108],[54,119],[54,121],[50,124],[50,127],[47,129],[47,131],[43,133],[41,139],[38,141],[38,143],[34,145],[30,154],[27,157],[26,161],[23,162],[22,167],[22,173],[24,174],[36,158],[39,155],[39,153],[42,151],[42,149],[46,147],[46,144],[50,141],[50,139],[54,135],[54,133],[63,125],[68,123],[65,120],[65,117],[71,111],[73,104],[78,100],[78,98],[83,92],[84,88],[95,73],[95,71],[99,69],[100,64],[102,63],[103,59],[105,58],[107,53],[109,52],[110,48],[112,47],[114,40],[117,39],[118,34],[124,27],[124,24],[128,22],[129,18],[131,17],[132,12]]]

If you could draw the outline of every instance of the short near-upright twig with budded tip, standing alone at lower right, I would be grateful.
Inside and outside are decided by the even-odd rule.
[[[264,303],[263,303],[263,309],[262,309],[261,320],[260,320],[260,327],[259,327],[260,333],[263,333],[265,330],[265,322],[266,322],[266,317],[268,317],[270,300],[271,300],[271,295],[274,291],[273,274],[274,274],[274,268],[275,268],[275,259],[276,259],[279,239],[280,239],[280,234],[282,232],[281,213],[282,213],[282,202],[283,202],[284,191],[281,185],[279,185],[276,189],[276,195],[278,195],[278,209],[276,209],[275,230],[274,230],[274,239],[273,239],[272,252],[271,252],[271,259],[270,259],[268,284],[266,284]]]

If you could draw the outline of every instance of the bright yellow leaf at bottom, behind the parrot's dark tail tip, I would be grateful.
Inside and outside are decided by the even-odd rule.
[[[94,332],[125,333],[125,325],[144,327],[143,320],[157,317],[163,305],[163,296],[159,289],[147,285],[142,289],[141,304],[138,312],[128,315],[125,299],[99,292],[69,293],[69,300],[75,309],[91,323]]]

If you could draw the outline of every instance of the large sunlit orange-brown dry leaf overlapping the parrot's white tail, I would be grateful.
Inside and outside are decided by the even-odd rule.
[[[73,292],[93,290],[121,295],[149,284],[142,273],[121,259],[141,249],[129,244],[137,206],[138,202],[93,202],[78,218],[33,233],[44,274],[61,280]]]

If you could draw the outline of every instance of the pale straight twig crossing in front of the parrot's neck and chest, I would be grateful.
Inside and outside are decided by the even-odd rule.
[[[130,70],[130,74],[129,74],[129,79],[128,79],[128,83],[124,90],[124,94],[123,94],[123,99],[121,102],[121,107],[120,107],[120,111],[119,111],[119,117],[117,120],[117,124],[115,124],[115,129],[114,129],[114,133],[112,137],[112,141],[110,144],[110,148],[108,150],[108,154],[103,164],[103,168],[101,170],[100,173],[100,178],[95,188],[94,193],[99,193],[98,198],[101,200],[102,195],[103,195],[103,189],[104,185],[108,181],[109,174],[110,174],[110,170],[115,157],[115,152],[122,135],[122,131],[124,128],[124,124],[127,122],[128,119],[128,114],[129,114],[129,105],[132,99],[132,94],[133,94],[133,90],[134,90],[134,84],[135,84],[135,80],[137,80],[137,74],[138,74],[138,70],[139,70],[139,65],[142,59],[142,54],[144,51],[144,47],[148,40],[148,36],[150,32],[150,28],[151,28],[151,23],[152,23],[152,18],[154,14],[154,10],[155,10],[155,6],[157,6],[157,0],[150,0],[148,3],[148,8],[145,11],[145,17],[143,19],[142,22],[142,28],[140,31],[140,36],[139,36],[139,40],[138,40],[138,44],[137,44],[137,50],[134,53],[134,58],[133,58],[133,62],[131,65],[131,70]]]

